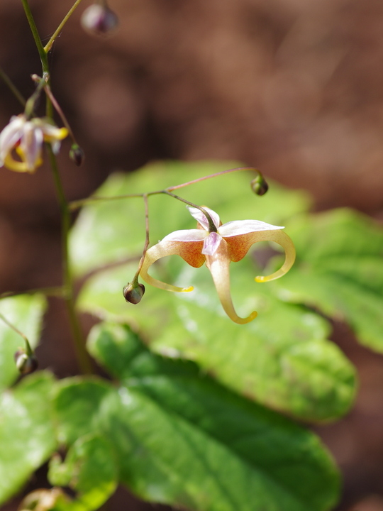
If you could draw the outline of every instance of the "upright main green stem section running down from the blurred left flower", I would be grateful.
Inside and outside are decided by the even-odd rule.
[[[91,361],[87,350],[85,349],[85,342],[82,336],[81,326],[79,324],[79,319],[77,317],[76,311],[74,309],[74,290],[73,290],[73,278],[72,272],[70,268],[70,260],[69,260],[69,250],[68,250],[68,235],[70,230],[70,209],[67,203],[67,199],[65,198],[64,189],[62,188],[62,182],[60,178],[60,173],[57,168],[57,161],[55,155],[52,151],[52,147],[50,144],[47,144],[48,153],[50,156],[50,165],[52,168],[53,180],[55,182],[55,189],[57,195],[57,201],[60,207],[61,213],[61,229],[62,229],[62,271],[63,271],[63,281],[66,289],[66,294],[64,297],[65,304],[67,306],[67,312],[70,319],[70,327],[72,330],[72,336],[74,340],[74,348],[76,351],[77,361],[79,363],[79,368],[82,370],[84,374],[92,373]]]

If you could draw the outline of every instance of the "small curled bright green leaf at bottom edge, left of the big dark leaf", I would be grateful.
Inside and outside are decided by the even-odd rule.
[[[82,436],[72,444],[64,463],[52,458],[48,478],[52,485],[68,486],[77,493],[74,500],[62,502],[60,510],[97,510],[117,487],[113,448],[101,436]]]

